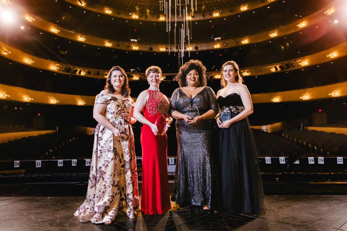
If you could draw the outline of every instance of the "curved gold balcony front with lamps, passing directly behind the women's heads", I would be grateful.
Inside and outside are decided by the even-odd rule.
[[[96,70],[96,69],[89,69],[86,67],[69,66],[69,65],[65,65],[64,63],[42,59],[34,55],[24,53],[23,51],[20,51],[12,46],[6,45],[5,43],[1,41],[0,41],[0,55],[7,59],[16,61],[18,63],[22,63],[27,66],[31,66],[31,67],[42,69],[42,70],[49,70],[49,71],[57,72],[60,74],[85,76],[89,78],[102,79],[105,77],[105,74],[107,73],[106,70]],[[245,69],[241,69],[240,71],[243,76],[265,75],[265,74],[271,74],[274,72],[303,69],[305,67],[309,67],[312,65],[317,65],[324,62],[333,61],[335,59],[344,57],[346,55],[347,55],[347,42],[344,42],[328,50],[307,55],[295,60],[288,60],[288,61],[283,61],[279,63],[273,63],[271,65],[266,65],[266,66],[245,68]],[[287,68],[287,66],[289,68]],[[70,71],[66,72],[67,68],[70,68]],[[72,72],[73,70],[77,70],[77,71],[73,73]],[[130,80],[138,80],[140,79],[140,77],[142,77],[142,79],[145,79],[144,73],[128,73],[128,74],[134,75],[134,78],[130,78]],[[165,77],[166,75],[176,75],[176,74],[163,74],[163,77]],[[220,72],[208,72],[207,75],[212,75],[213,78],[217,78],[217,79],[221,78]]]

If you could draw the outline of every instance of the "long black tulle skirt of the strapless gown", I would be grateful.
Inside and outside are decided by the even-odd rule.
[[[247,118],[220,129],[222,207],[230,213],[265,211],[253,132]]]

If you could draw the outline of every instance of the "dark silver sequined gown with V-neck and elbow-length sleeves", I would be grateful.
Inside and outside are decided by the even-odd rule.
[[[193,99],[180,88],[171,96],[170,113],[189,114],[195,104],[200,115],[212,109],[218,112],[217,100],[210,87],[205,87]],[[174,192],[171,200],[177,204],[207,205],[211,207],[213,177],[211,173],[211,148],[213,121],[202,120],[191,125],[176,120],[177,162]]]

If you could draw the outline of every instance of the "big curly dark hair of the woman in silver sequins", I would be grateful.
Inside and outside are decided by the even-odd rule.
[[[187,86],[186,84],[186,77],[189,71],[191,70],[197,70],[199,74],[199,87],[206,86],[207,85],[207,79],[206,79],[206,67],[202,65],[202,62],[197,59],[191,59],[189,62],[186,62],[183,66],[179,68],[178,74],[176,76],[176,80],[180,87]]]

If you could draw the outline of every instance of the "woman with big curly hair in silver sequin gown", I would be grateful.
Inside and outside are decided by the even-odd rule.
[[[171,96],[170,114],[176,119],[177,163],[174,192],[177,204],[211,208],[213,121],[218,112],[214,92],[206,86],[206,68],[198,60],[185,63],[177,75],[180,88]]]

